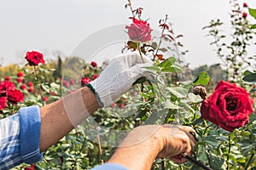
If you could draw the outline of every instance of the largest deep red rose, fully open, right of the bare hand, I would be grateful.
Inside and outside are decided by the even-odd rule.
[[[243,127],[253,112],[253,99],[244,88],[230,82],[218,82],[212,95],[203,100],[201,117],[232,132]]]

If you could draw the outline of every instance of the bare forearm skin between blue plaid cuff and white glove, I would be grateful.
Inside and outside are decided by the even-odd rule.
[[[41,107],[40,150],[47,150],[98,108],[96,96],[90,88],[81,88]]]

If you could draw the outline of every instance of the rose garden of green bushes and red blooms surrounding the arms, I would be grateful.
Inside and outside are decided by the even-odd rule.
[[[120,133],[143,124],[164,123],[195,128],[198,142],[193,157],[207,167],[255,169],[256,63],[255,54],[249,54],[248,48],[255,48],[256,25],[247,17],[250,14],[256,19],[256,10],[236,0],[230,6],[230,38],[220,31],[224,25],[221,20],[212,20],[203,28],[212,37],[210,43],[216,48],[216,57],[223,62],[215,65],[215,72],[202,66],[191,74],[183,60],[188,53],[181,43],[185,37],[173,31],[169,16],[159,20],[160,35],[153,37],[150,20],[143,19],[144,9],[133,7],[128,0],[125,8],[131,10],[131,24],[124,30],[130,40],[122,51],[147,55],[153,65],[146,69],[154,80],[138,79],[112,106],[96,111],[87,122],[45,151],[43,161],[15,169],[90,169],[108,161]],[[0,67],[0,118],[15,114],[20,107],[43,106],[61,99],[95,80],[104,68],[95,61],[87,63],[73,56],[46,60],[38,51],[27,52],[25,59],[27,65],[22,67]],[[72,69],[65,68],[67,63]],[[83,71],[76,70],[78,65],[83,65]],[[77,72],[82,74],[79,81],[73,78],[78,77]],[[130,114],[119,116],[125,113]],[[101,128],[95,128],[89,123],[91,120]],[[95,129],[88,130],[92,128]],[[109,130],[119,133],[108,133]],[[191,161],[177,165],[158,159],[152,169],[200,167]]]

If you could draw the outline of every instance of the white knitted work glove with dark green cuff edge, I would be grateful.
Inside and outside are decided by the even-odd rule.
[[[90,82],[101,107],[112,105],[131,88],[140,77],[152,79],[147,69],[153,62],[146,56],[143,60],[137,52],[121,54],[111,60],[100,77]]]

